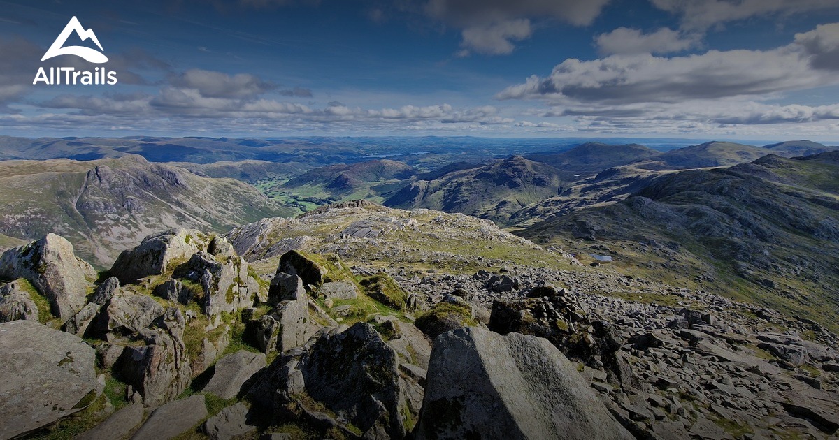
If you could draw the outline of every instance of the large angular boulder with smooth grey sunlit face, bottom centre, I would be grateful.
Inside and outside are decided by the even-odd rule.
[[[547,339],[480,328],[435,339],[414,436],[633,438]]]

